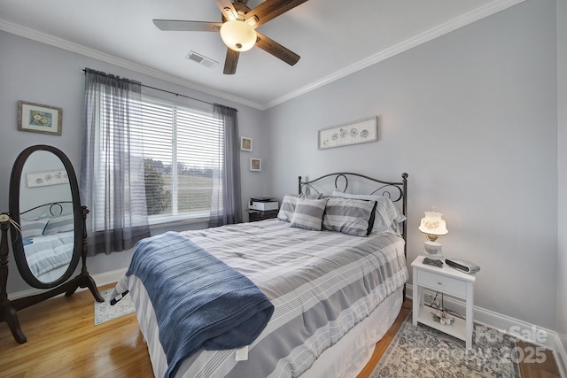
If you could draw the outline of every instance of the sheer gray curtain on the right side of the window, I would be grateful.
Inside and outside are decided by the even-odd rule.
[[[222,140],[224,148],[213,169],[213,197],[209,227],[242,222],[242,199],[240,197],[240,140],[238,137],[237,110],[214,104],[214,115],[224,125]]]

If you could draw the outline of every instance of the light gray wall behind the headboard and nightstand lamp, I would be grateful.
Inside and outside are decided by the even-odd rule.
[[[555,328],[555,1],[527,1],[268,111],[272,192],[298,175],[409,174],[408,260],[437,206],[447,256],[478,263],[475,305]],[[317,130],[371,115],[379,141],[317,150]]]

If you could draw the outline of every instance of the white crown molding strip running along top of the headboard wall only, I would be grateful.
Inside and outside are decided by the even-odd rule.
[[[416,35],[412,38],[407,39],[404,42],[400,42],[388,49],[382,50],[377,54],[370,56],[369,58],[362,59],[361,61],[351,66],[347,66],[346,68],[339,70],[336,73],[332,73],[329,76],[326,76],[319,81],[314,81],[303,88],[295,90],[285,96],[276,98],[276,100],[266,104],[266,107],[271,108],[278,104],[283,104],[297,96],[305,95],[307,92],[321,88],[322,86],[327,85],[330,82],[337,81],[338,79],[348,76],[351,73],[356,73],[364,68],[376,65],[377,63],[382,62],[387,58],[392,58],[393,56],[398,55],[404,51],[413,49],[414,47],[419,46],[420,44],[429,42],[432,39],[440,37],[441,35],[446,35],[447,33],[450,33],[460,27],[465,27],[467,25],[470,25],[473,22],[478,21],[479,19],[484,19],[485,17],[491,16],[494,13],[508,9],[510,6],[523,3],[524,1],[525,0],[495,0],[493,1],[493,3],[486,4],[485,6],[482,6],[472,12],[465,13],[460,17],[451,19],[450,21],[447,21],[439,25],[438,27],[433,27],[432,29],[427,30],[421,35]]]

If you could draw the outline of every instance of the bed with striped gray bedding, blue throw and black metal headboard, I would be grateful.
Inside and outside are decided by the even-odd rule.
[[[355,376],[403,302],[407,178],[299,177],[277,219],[144,239],[111,303],[130,293],[156,376]],[[347,194],[366,190],[356,181],[377,188]],[[210,302],[188,294],[209,289]]]

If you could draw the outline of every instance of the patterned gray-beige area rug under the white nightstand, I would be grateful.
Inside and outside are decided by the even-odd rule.
[[[377,377],[520,377],[516,340],[475,324],[472,348],[423,324],[412,324],[411,312],[378,362]]]

